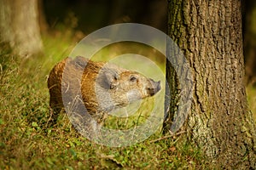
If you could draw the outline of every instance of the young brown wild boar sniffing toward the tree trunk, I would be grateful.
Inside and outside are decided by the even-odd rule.
[[[93,62],[84,57],[67,58],[55,65],[49,73],[49,106],[54,119],[64,107],[61,84],[62,94],[69,93],[67,98],[81,94],[86,110],[97,122],[101,122],[102,116],[114,109],[160,91],[160,82],[154,82],[136,71],[104,62]]]

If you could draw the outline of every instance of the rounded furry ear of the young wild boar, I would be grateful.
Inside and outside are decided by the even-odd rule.
[[[104,70],[100,73],[98,79],[102,88],[113,89],[117,85],[119,74],[117,71]]]

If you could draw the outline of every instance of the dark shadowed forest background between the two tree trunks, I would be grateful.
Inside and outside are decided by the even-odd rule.
[[[103,26],[135,22],[166,31],[166,1],[41,0],[40,5],[49,29],[63,24],[89,34]],[[73,19],[76,23],[70,22]]]

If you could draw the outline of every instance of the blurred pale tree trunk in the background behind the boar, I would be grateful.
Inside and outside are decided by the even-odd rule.
[[[0,40],[21,56],[42,52],[37,0],[0,0]]]

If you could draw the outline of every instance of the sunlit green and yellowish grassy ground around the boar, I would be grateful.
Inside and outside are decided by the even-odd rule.
[[[154,134],[139,144],[111,148],[83,138],[64,114],[47,127],[47,75],[73,46],[61,37],[44,37],[44,45],[43,58],[24,62],[1,44],[0,169],[207,169],[200,151],[178,136],[154,141],[162,137]],[[255,91],[248,90],[251,103]]]

